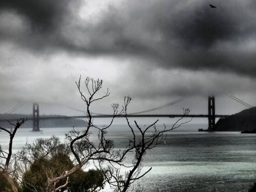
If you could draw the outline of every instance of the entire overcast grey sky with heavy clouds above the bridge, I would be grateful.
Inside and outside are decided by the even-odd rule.
[[[83,109],[80,75],[111,92],[97,113],[125,95],[131,111],[212,94],[255,106],[255,20],[255,0],[2,0],[0,112],[25,101]]]

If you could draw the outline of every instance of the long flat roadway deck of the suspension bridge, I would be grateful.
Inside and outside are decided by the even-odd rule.
[[[127,117],[168,117],[168,118],[175,118],[175,117],[182,117],[183,115],[136,115],[136,114],[127,114]],[[217,118],[226,118],[230,115],[215,115]],[[92,115],[92,118],[112,118],[113,115]],[[125,115],[118,115],[116,117],[125,117]],[[208,115],[186,115],[185,117],[202,117],[208,118]],[[82,119],[88,118],[87,115],[83,116],[53,116],[53,117],[39,117],[40,120],[47,120],[47,119]],[[17,119],[0,119],[0,122],[4,121],[16,121]],[[33,120],[33,117],[27,118],[27,120]]]

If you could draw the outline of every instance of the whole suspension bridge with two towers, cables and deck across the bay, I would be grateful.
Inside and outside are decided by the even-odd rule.
[[[190,113],[186,117],[208,118],[208,130],[212,130],[216,118],[229,117],[251,107],[251,105],[233,95],[209,96],[208,98],[187,97],[154,109],[129,113],[127,117],[182,117],[183,109],[189,108]],[[33,120],[32,131],[40,131],[40,119],[88,118],[86,111],[48,103],[20,103],[8,111],[7,114],[27,115],[28,120]],[[113,115],[108,114],[92,113],[91,115],[92,118],[113,117]],[[125,117],[125,115],[117,117]],[[0,119],[0,122],[3,121],[16,121],[16,119]]]

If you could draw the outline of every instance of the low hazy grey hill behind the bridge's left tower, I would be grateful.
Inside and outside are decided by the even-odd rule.
[[[19,118],[31,118],[32,115],[21,115],[21,114],[0,114],[0,119],[19,119]],[[52,115],[44,115],[44,117],[53,117]],[[56,116],[61,117],[61,116]],[[12,121],[15,124],[15,121]],[[4,128],[10,128],[8,122],[0,122],[0,126]],[[39,121],[39,128],[48,128],[48,127],[84,127],[87,126],[87,122],[82,119],[47,119]],[[33,121],[26,121],[22,128],[32,128]]]

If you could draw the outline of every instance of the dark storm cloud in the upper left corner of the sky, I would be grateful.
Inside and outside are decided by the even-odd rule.
[[[59,49],[63,45],[61,28],[78,7],[79,0],[2,0],[0,19],[7,28],[0,28],[0,40],[14,42],[34,53],[49,48]],[[9,19],[9,25],[5,17]],[[13,25],[9,31],[9,26],[17,23],[17,18],[20,26],[15,28]]]

